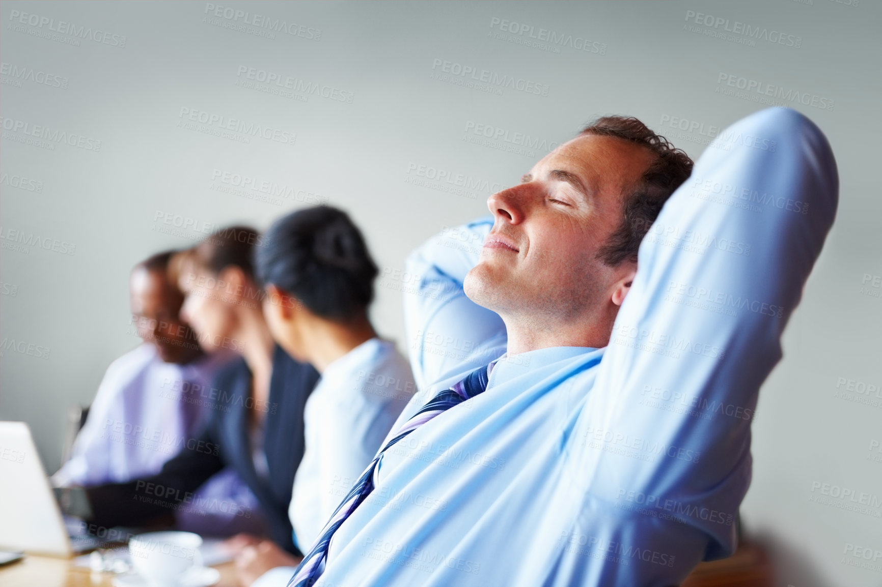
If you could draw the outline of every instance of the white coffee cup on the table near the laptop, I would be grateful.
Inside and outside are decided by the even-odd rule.
[[[177,587],[194,568],[202,567],[202,537],[192,532],[138,534],[129,540],[131,564],[150,587]]]

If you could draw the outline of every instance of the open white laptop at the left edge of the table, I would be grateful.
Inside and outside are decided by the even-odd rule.
[[[78,502],[74,506],[87,506],[81,490],[63,491],[65,499]],[[71,556],[112,540],[100,538],[100,531],[93,536],[83,526],[75,518],[62,516],[27,424],[0,422],[0,550]],[[111,531],[119,539],[128,534]]]

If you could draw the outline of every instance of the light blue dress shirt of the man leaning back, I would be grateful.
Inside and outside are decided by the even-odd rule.
[[[759,386],[837,198],[803,115],[729,127],[641,244],[609,345],[505,357],[484,393],[387,451],[317,585],[666,587],[731,554]],[[410,258],[413,365],[432,384],[392,434],[505,352],[498,316],[461,293],[489,229],[446,230]]]

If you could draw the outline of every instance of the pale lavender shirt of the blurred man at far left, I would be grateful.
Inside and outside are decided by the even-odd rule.
[[[142,344],[107,369],[79,431],[71,458],[53,476],[57,486],[91,487],[149,477],[198,435],[213,406],[214,375],[233,355],[211,353],[186,365],[161,360],[156,347]],[[258,531],[258,499],[239,475],[225,468],[194,494],[198,509],[176,513],[178,530],[202,533]],[[230,509],[235,503],[238,509]]]

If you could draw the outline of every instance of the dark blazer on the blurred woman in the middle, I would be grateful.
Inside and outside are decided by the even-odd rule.
[[[265,412],[264,450],[269,478],[255,470],[251,457],[249,413],[251,372],[245,360],[235,360],[215,376],[213,390],[202,401],[215,404],[205,427],[186,442],[161,472],[126,483],[86,489],[93,524],[138,526],[168,519],[178,508],[192,507],[192,494],[214,473],[231,466],[258,498],[270,538],[292,554],[288,503],[294,476],[303,458],[303,407],[318,382],[312,366],[297,362],[279,346],[273,349],[273,375]]]

